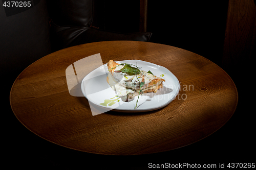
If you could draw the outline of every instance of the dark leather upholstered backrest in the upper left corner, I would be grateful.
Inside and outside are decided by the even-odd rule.
[[[0,7],[0,72],[14,74],[8,77],[14,80],[27,66],[51,53],[46,1],[33,2],[28,9]]]

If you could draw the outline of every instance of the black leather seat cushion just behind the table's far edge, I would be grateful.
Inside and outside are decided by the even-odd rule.
[[[98,41],[133,40],[148,41],[152,33],[117,33],[93,27],[57,26],[51,22],[52,50]]]

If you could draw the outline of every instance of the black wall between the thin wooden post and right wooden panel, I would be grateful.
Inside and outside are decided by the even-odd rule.
[[[149,1],[147,30],[155,33],[152,42],[180,47],[220,64],[227,2]]]

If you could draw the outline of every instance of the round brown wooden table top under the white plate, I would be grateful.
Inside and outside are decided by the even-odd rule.
[[[66,69],[98,53],[103,64],[136,59],[169,69],[180,81],[177,98],[155,111],[93,116],[86,98],[70,95]],[[10,103],[18,120],[48,141],[88,153],[139,155],[177,149],[214,133],[236,110],[238,93],[223,69],[195,53],[150,42],[105,41],[37,60],[17,77]]]

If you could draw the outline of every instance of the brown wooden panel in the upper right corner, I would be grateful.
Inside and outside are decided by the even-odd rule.
[[[222,59],[225,70],[237,71],[241,66],[246,69],[251,64],[248,61],[256,56],[255,35],[255,3],[229,0]]]

